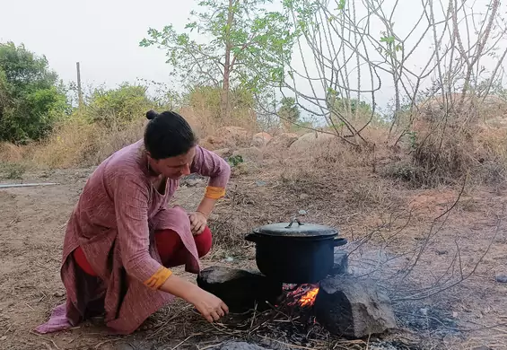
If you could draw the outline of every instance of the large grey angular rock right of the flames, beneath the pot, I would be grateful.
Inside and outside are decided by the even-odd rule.
[[[372,279],[325,279],[320,283],[314,310],[319,323],[340,337],[363,338],[396,328],[389,297]]]

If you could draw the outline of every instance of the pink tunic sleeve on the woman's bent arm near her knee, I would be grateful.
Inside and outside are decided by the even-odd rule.
[[[208,185],[215,188],[225,188],[231,177],[229,164],[216,153],[201,146],[196,147],[196,156],[190,171],[209,177]]]

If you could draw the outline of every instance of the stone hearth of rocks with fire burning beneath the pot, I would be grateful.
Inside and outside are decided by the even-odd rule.
[[[349,274],[344,252],[335,254],[335,266],[319,284],[288,285],[270,281],[258,271],[208,267],[197,284],[225,302],[232,314],[282,310],[317,322],[329,333],[364,338],[396,328],[389,297],[367,278]]]

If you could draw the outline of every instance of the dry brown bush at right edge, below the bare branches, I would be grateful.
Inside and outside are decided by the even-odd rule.
[[[419,116],[410,135],[412,163],[420,185],[435,187],[462,182],[500,183],[507,176],[507,127],[485,123],[483,108],[432,111]],[[440,113],[440,114],[439,114]]]

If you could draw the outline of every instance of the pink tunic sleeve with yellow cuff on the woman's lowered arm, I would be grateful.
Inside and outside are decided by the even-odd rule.
[[[127,274],[144,283],[162,267],[149,253],[149,188],[134,177],[122,175],[114,188],[121,259]]]

